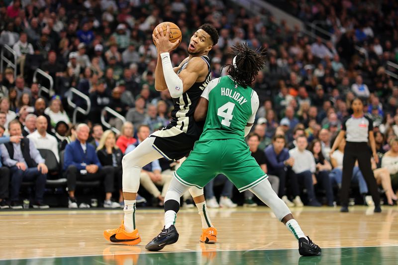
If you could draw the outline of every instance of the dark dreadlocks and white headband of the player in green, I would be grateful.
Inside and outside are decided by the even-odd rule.
[[[223,67],[229,66],[228,75],[236,84],[243,88],[250,87],[258,72],[264,68],[266,50],[252,50],[245,42],[232,46],[232,51],[235,55],[232,64]]]

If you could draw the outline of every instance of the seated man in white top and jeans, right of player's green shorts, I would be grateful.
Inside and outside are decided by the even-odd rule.
[[[304,184],[308,195],[308,206],[322,206],[316,197],[314,191],[314,184],[316,184],[315,178],[315,159],[312,153],[305,148],[308,145],[307,138],[304,135],[298,136],[296,139],[296,148],[289,151],[290,157],[295,159],[295,164],[292,169],[296,173],[298,182]]]

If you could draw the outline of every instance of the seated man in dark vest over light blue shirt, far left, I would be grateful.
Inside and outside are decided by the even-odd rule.
[[[18,120],[8,123],[10,136],[22,134],[22,127]],[[10,168],[11,174],[11,208],[22,209],[18,194],[23,180],[35,181],[35,201],[33,208],[46,209],[43,203],[44,188],[47,180],[48,169],[44,159],[35,148],[32,141],[27,138],[14,143],[9,142],[0,146],[3,164]]]

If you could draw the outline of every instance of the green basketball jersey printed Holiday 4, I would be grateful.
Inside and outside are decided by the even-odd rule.
[[[235,85],[230,76],[212,80],[201,95],[208,100],[207,118],[199,140],[240,139],[258,108],[257,93]]]

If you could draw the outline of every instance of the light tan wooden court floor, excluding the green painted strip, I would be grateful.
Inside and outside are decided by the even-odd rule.
[[[350,213],[326,207],[292,210],[304,233],[321,248],[398,246],[397,206],[383,207],[381,214],[362,206],[350,208]],[[132,255],[133,259],[147,253],[146,243],[163,226],[163,211],[138,209],[142,243],[134,247],[111,245],[102,237],[102,231],[118,227],[122,217],[121,209],[1,211],[0,259],[104,255],[106,261],[114,255]],[[217,244],[200,244],[197,210],[182,210],[176,223],[180,239],[163,252],[219,252],[220,256],[220,251],[298,248],[296,239],[267,207],[211,209],[210,217],[218,229]]]

